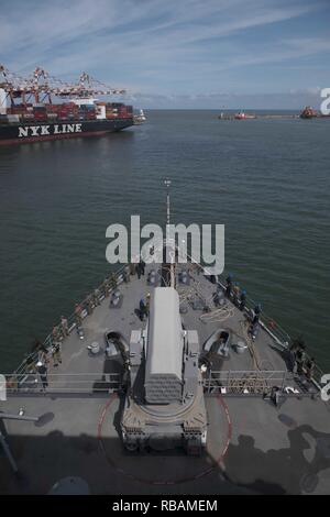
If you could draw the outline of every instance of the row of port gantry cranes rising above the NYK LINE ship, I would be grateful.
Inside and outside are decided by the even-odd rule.
[[[4,90],[14,105],[15,99],[21,99],[22,103],[34,99],[35,102],[47,100],[52,103],[52,96],[61,98],[92,97],[124,95],[127,90],[122,88],[111,88],[95,79],[87,73],[82,73],[77,82],[67,82],[58,77],[51,76],[41,67],[35,68],[32,75],[22,77],[8,70],[0,65],[0,89]]]

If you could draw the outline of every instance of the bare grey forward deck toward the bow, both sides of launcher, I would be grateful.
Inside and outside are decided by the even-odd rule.
[[[146,267],[145,275],[138,278],[136,275],[130,277],[128,284],[122,283],[119,290],[122,295],[122,302],[119,308],[111,308],[109,298],[106,298],[100,306],[96,307],[92,315],[82,320],[85,339],[80,340],[75,331],[65,340],[62,346],[63,363],[54,369],[52,360],[50,363],[50,374],[100,374],[100,378],[105,373],[117,371],[117,365],[112,360],[107,360],[105,353],[91,355],[88,353],[87,345],[98,342],[105,352],[106,341],[105,333],[107,331],[120,332],[125,341],[130,341],[132,330],[145,328],[145,322],[141,321],[138,315],[139,302],[146,299],[147,294],[153,294],[154,287],[147,283],[147,274],[151,266]],[[188,286],[177,284],[180,296],[182,306],[187,308],[186,314],[182,314],[183,323],[186,329],[197,330],[200,346],[206,340],[219,328],[229,330],[235,334],[237,340],[246,340],[246,330],[244,327],[245,318],[243,314],[228,300],[230,310],[220,314],[217,320],[210,320],[204,315],[202,310],[195,310],[191,307],[194,300],[204,298],[210,302],[216,292],[216,286],[211,284],[201,273],[190,270],[190,283]],[[261,370],[285,371],[286,363],[276,350],[274,340],[261,329],[256,341],[254,342],[256,350],[257,363]],[[116,361],[117,362],[117,361]],[[251,371],[256,365],[253,356],[249,353],[237,354],[230,352],[228,359],[223,361],[222,370],[231,371]]]

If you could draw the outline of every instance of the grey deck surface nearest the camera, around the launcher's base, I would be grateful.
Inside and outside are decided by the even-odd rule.
[[[0,493],[45,494],[61,479],[79,476],[92,494],[328,494],[329,414],[310,399],[279,409],[260,398],[207,399],[209,443],[201,458],[127,453],[118,437],[120,400],[45,397],[11,402],[42,422],[8,421],[20,465],[0,461]]]

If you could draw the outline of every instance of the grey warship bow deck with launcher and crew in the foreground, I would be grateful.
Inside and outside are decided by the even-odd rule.
[[[170,263],[112,272],[1,376],[0,493],[329,494],[330,397],[304,341],[162,245]]]

